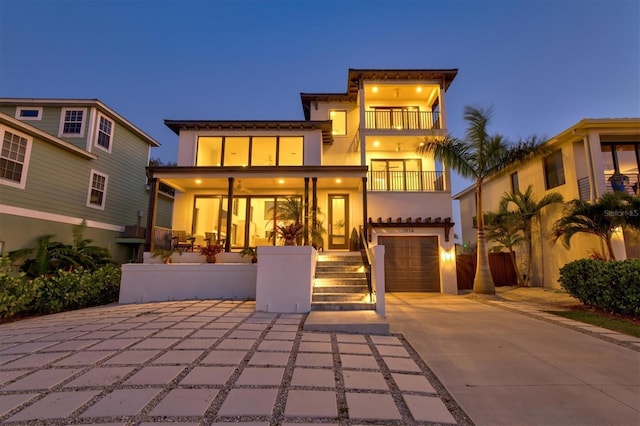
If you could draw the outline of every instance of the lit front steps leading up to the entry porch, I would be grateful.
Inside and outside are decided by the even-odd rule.
[[[312,311],[375,310],[360,252],[318,254]]]

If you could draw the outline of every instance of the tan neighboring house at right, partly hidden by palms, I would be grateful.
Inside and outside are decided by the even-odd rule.
[[[640,174],[640,118],[583,119],[546,142],[551,154],[536,158],[516,168],[490,177],[482,186],[483,207],[497,211],[505,192],[516,188],[524,192],[529,185],[540,200],[548,192],[562,194],[565,201],[583,199],[593,201],[613,190],[610,179],[622,174],[624,189],[629,194],[638,192]],[[462,238],[475,245],[476,196],[475,186],[453,197],[460,201]],[[604,247],[597,237],[578,234],[567,250],[561,241],[554,243],[552,228],[561,216],[562,205],[543,210],[539,226],[534,220],[532,284],[559,288],[559,268],[576,259],[588,257]],[[617,259],[638,257],[638,244],[625,231],[614,237]],[[519,254],[522,250],[517,250]]]

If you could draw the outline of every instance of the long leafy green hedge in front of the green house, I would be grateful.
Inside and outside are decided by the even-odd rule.
[[[103,266],[93,272],[57,270],[32,280],[0,261],[0,319],[14,316],[52,314],[117,302],[120,268]]]

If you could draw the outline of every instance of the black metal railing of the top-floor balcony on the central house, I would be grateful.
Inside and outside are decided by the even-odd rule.
[[[438,130],[439,112],[385,110],[365,111],[365,128],[376,130]]]

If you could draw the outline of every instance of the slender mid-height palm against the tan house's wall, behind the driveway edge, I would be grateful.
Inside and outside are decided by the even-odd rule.
[[[517,226],[522,230],[523,239],[527,245],[526,256],[526,274],[524,276],[523,285],[528,286],[531,280],[531,255],[533,253],[533,241],[531,238],[531,229],[533,219],[540,219],[542,210],[551,204],[562,203],[564,201],[562,194],[550,192],[546,194],[540,201],[533,195],[533,187],[529,185],[524,193],[516,190],[514,193],[505,193],[500,201],[501,208],[509,210],[511,204],[516,209],[512,211],[515,215]]]

